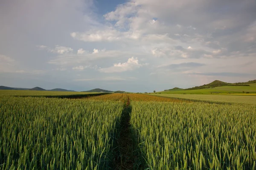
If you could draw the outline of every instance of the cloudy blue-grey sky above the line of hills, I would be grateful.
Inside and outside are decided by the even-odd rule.
[[[0,0],[0,85],[152,92],[256,79],[255,0]]]

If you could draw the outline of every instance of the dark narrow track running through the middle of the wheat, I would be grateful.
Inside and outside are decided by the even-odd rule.
[[[113,161],[113,170],[140,170],[138,162],[138,152],[133,145],[131,134],[131,105],[128,99],[124,110],[119,128],[119,138],[117,139],[116,158]]]

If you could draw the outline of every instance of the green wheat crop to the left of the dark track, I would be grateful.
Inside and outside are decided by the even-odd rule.
[[[0,169],[105,170],[122,102],[0,98]]]

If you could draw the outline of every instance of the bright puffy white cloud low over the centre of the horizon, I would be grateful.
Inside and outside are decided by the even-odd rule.
[[[137,68],[140,68],[142,65],[139,64],[139,60],[137,58],[131,57],[127,62],[114,64],[112,67],[101,68],[100,72],[104,73],[114,73],[114,72],[123,72],[123,71],[132,71]]]

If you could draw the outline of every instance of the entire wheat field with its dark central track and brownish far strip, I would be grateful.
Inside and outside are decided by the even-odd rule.
[[[22,93],[0,91],[3,170],[256,168],[256,96]]]

